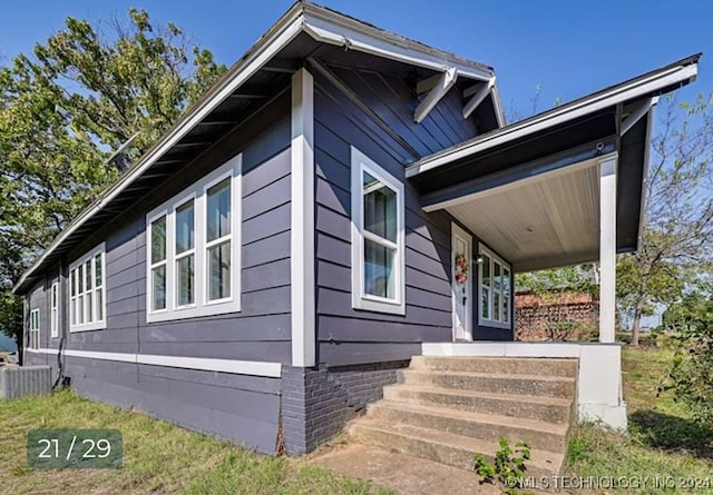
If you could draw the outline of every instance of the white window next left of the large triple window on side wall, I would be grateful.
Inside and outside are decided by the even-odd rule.
[[[69,266],[69,331],[107,327],[104,242]]]

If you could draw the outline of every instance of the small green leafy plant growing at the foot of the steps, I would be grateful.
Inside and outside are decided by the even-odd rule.
[[[475,469],[484,482],[495,483],[497,479],[505,485],[506,494],[515,495],[525,482],[525,462],[531,458],[530,446],[527,442],[518,442],[512,448],[505,437],[500,437],[499,444],[495,464],[489,463],[482,454],[476,454]]]

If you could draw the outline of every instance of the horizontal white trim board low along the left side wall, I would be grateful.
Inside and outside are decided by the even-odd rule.
[[[58,349],[49,348],[26,348],[26,350],[30,353],[50,354],[55,356],[58,352]],[[202,372],[229,373],[234,375],[266,376],[272,378],[280,378],[282,376],[282,364],[270,362],[163,356],[155,354],[104,353],[99,350],[76,349],[64,349],[62,354],[65,356],[82,357],[87,359],[134,363],[138,365],[166,366],[169,368],[198,369]]]

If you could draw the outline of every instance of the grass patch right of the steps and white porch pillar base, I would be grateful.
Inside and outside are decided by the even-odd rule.
[[[662,493],[661,487],[653,486],[657,477],[668,479],[666,493],[713,494],[713,429],[695,424],[685,407],[674,400],[673,393],[657,396],[671,358],[666,350],[624,348],[629,430],[618,434],[596,425],[579,425],[567,453],[569,475],[648,479],[648,486],[631,493]],[[694,489],[688,483],[696,479],[700,486]]]

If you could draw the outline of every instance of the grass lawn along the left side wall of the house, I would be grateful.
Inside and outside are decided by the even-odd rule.
[[[119,469],[33,469],[27,433],[35,428],[118,428]],[[0,402],[1,489],[13,494],[387,494],[305,461],[254,454],[143,414],[85,400],[70,392]]]

